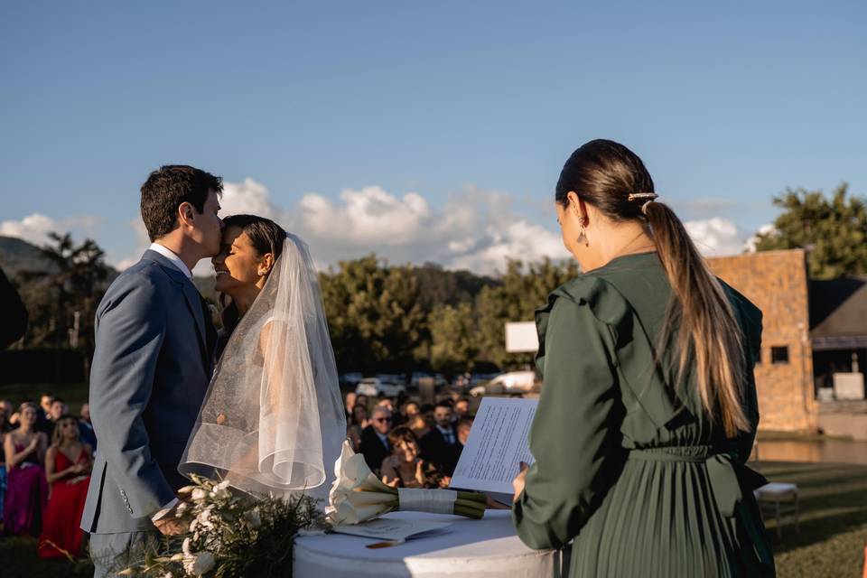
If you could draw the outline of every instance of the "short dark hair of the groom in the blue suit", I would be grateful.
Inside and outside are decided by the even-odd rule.
[[[142,185],[142,220],[147,236],[155,241],[178,228],[178,207],[189,202],[205,210],[208,191],[223,191],[223,180],[186,164],[166,164],[151,172]]]

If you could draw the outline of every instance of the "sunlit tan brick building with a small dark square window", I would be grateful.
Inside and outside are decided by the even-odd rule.
[[[756,366],[760,429],[816,431],[809,279],[802,249],[708,259],[713,273],[763,313]]]

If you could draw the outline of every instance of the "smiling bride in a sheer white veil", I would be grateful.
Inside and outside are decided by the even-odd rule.
[[[310,252],[270,219],[224,223],[219,359],[178,470],[327,504],[346,416]]]

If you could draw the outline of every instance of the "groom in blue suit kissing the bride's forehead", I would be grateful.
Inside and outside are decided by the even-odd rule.
[[[126,565],[156,536],[180,534],[178,461],[212,369],[216,332],[191,269],[219,252],[219,177],[191,166],[154,171],[142,186],[153,244],[97,309],[90,416],[98,439],[81,527],[95,576]]]

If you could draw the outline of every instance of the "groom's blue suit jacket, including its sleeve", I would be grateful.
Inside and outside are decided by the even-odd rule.
[[[150,517],[189,483],[178,462],[210,381],[206,323],[195,286],[154,251],[108,288],[90,369],[99,452],[82,529],[153,528]]]

